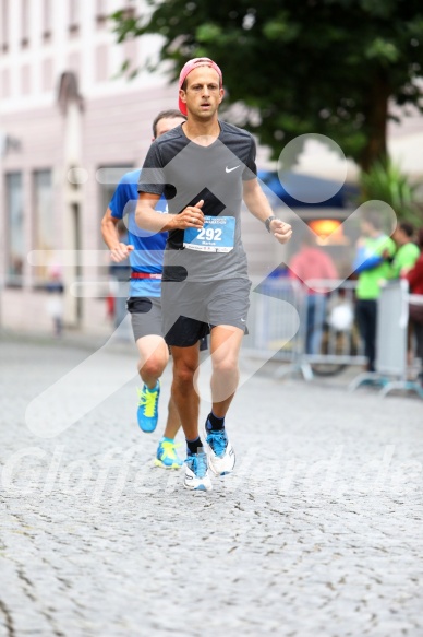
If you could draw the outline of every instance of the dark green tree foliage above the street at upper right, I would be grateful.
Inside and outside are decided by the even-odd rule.
[[[119,42],[160,34],[172,80],[190,58],[223,71],[226,104],[277,157],[304,133],[336,141],[368,169],[386,155],[389,107],[422,108],[421,0],[147,0],[113,14]]]

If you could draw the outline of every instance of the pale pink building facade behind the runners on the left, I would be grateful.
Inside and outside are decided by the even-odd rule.
[[[121,174],[147,151],[157,111],[177,107],[164,74],[129,81],[158,39],[117,45],[106,16],[122,5],[132,9],[125,0],[0,1],[2,327],[50,330],[60,281],[68,328],[109,329],[100,219]]]

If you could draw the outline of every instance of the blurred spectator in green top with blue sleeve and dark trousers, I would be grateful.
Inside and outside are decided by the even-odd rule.
[[[375,371],[377,298],[380,282],[389,278],[391,266],[387,259],[394,257],[396,245],[384,233],[377,211],[370,211],[363,217],[361,232],[353,263],[358,275],[355,318],[364,341],[367,371]]]

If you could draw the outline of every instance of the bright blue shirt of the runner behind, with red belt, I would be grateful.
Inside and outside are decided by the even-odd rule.
[[[136,225],[135,210],[138,200],[137,184],[140,169],[125,173],[119,181],[109,203],[111,216],[122,219],[128,215],[128,243],[134,246],[130,252],[131,268],[135,272],[161,274],[164,251],[168,233],[152,233]],[[156,207],[157,212],[168,212],[162,197]],[[160,279],[131,279],[130,296],[161,296]]]

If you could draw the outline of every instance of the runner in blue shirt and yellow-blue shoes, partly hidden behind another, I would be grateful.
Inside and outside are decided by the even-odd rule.
[[[162,110],[153,122],[153,140],[165,134],[173,127],[185,121],[176,109]],[[138,389],[137,421],[143,432],[154,432],[158,421],[159,378],[169,358],[168,346],[161,333],[161,271],[162,258],[168,233],[154,233],[141,229],[135,223],[135,209],[138,198],[137,182],[140,169],[126,173],[114,191],[101,221],[101,234],[110,249],[114,263],[130,259],[131,281],[128,310],[131,314],[132,329],[138,349],[138,371],[143,389]],[[156,210],[167,212],[162,198]],[[120,240],[118,224],[125,219],[128,244]],[[172,398],[169,401],[168,420],[164,436],[159,441],[155,463],[166,469],[178,469],[183,464],[178,457],[174,437],[180,428],[178,410]]]

